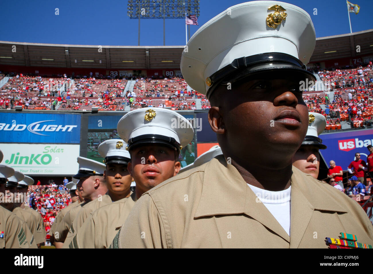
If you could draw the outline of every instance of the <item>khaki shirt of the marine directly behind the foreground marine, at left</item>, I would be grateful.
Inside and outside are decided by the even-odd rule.
[[[98,208],[85,220],[70,248],[109,248],[137,201],[136,192]]]

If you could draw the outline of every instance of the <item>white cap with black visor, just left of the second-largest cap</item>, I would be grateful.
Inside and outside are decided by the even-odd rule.
[[[98,146],[98,153],[104,158],[104,164],[117,163],[127,165],[131,155],[126,150],[127,144],[121,139],[111,139]]]

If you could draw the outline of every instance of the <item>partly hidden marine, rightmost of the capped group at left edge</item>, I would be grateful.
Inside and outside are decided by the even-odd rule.
[[[28,186],[31,186],[33,184],[34,184],[34,179],[25,175],[25,178],[23,178],[22,181],[18,182],[18,186],[17,186],[18,194],[21,194],[21,197],[23,196],[25,198],[25,195],[27,195]],[[30,208],[30,206],[28,204],[28,201],[26,199],[23,199],[23,201],[26,201],[26,203],[22,203],[19,206],[19,208],[21,208],[21,209],[25,210],[26,212],[34,215],[34,217],[37,220],[38,226],[37,226],[36,231],[34,233],[34,237],[35,237],[35,242],[36,242],[38,248],[40,248],[41,244],[43,244],[46,241],[46,236],[47,236],[47,232],[46,232],[46,229],[44,227],[43,217],[41,217],[41,214],[39,212]]]

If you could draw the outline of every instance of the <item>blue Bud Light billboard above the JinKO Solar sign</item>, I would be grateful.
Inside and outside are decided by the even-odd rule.
[[[0,142],[79,144],[80,115],[2,113]]]

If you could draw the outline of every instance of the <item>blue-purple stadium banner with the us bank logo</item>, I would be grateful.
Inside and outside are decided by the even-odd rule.
[[[357,152],[360,153],[361,160],[367,161],[367,156],[370,153],[367,146],[373,144],[372,129],[328,133],[319,137],[323,140],[323,144],[327,146],[326,149],[320,149],[326,164],[329,166],[330,160],[333,160],[343,170],[347,170]]]

